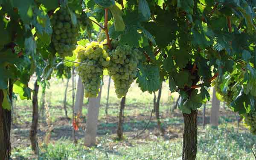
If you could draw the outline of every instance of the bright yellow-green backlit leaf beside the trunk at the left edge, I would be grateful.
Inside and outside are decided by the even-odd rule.
[[[31,99],[31,89],[21,81],[15,81],[13,84],[13,93],[20,95],[20,99]]]

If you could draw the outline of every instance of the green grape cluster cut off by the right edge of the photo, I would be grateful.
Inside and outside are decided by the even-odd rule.
[[[242,114],[244,124],[252,134],[256,134],[256,109],[250,110],[249,113]]]

